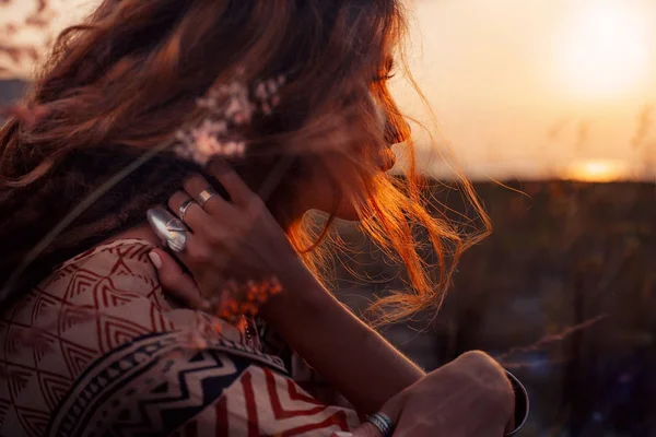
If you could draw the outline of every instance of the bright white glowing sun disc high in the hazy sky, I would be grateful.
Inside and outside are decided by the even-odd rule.
[[[644,15],[626,0],[591,0],[575,10],[558,61],[570,93],[606,97],[637,87],[649,60]]]

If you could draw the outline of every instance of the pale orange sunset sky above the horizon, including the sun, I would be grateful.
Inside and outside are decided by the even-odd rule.
[[[56,2],[75,4],[70,19],[93,1]],[[441,132],[431,144],[414,129],[425,172],[444,174],[438,151],[448,142],[473,178],[656,177],[655,0],[409,4],[410,67]],[[431,125],[402,78],[393,87]]]

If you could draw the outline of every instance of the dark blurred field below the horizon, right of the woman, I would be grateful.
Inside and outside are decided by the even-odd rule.
[[[0,103],[22,88],[0,81]],[[497,357],[530,393],[520,436],[656,436],[656,185],[508,184],[520,192],[476,184],[494,234],[464,256],[440,315],[385,335],[426,369],[472,349]],[[339,229],[359,249],[336,258],[340,298],[360,310],[402,284],[356,227]]]

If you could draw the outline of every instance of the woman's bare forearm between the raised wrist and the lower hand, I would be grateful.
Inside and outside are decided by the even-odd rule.
[[[318,282],[298,288],[271,299],[262,317],[359,411],[377,411],[424,376]]]

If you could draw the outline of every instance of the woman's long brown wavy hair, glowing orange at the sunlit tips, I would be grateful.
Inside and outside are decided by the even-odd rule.
[[[326,232],[317,237],[286,212],[326,154],[349,156],[370,193],[359,205],[362,227],[398,256],[410,282],[375,309],[386,309],[383,320],[394,321],[438,306],[455,261],[481,235],[464,238],[440,209],[431,215],[422,198],[408,125],[385,82],[406,26],[398,0],[105,0],[60,36],[28,93],[26,104],[44,116],[34,125],[11,119],[0,131],[0,283],[90,193],[201,117],[195,103],[213,83],[243,69],[249,83],[279,74],[286,83],[281,104],[254,121],[246,155],[232,164],[260,187],[268,170],[293,156],[267,204],[307,264],[318,271]],[[376,106],[385,109],[384,129],[375,122]],[[361,160],[403,140],[410,157],[405,178],[380,175],[373,160]],[[153,155],[56,235],[11,295],[142,223],[145,211],[165,203],[191,172],[202,173],[166,150]],[[340,169],[326,170],[339,192]],[[467,184],[465,191],[484,218]],[[415,225],[437,253],[435,268],[418,255],[423,243],[413,236]]]

